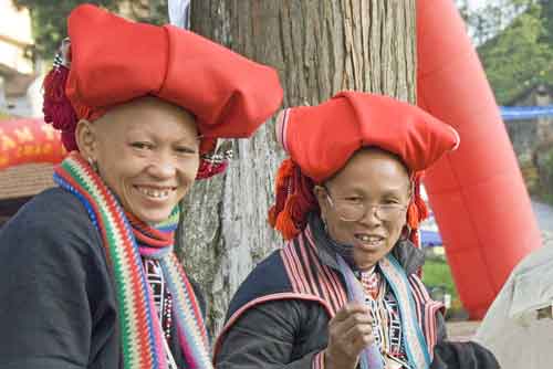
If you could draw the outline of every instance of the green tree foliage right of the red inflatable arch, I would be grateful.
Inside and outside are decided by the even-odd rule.
[[[553,6],[526,2],[522,13],[478,48],[500,105],[511,104],[538,83],[553,84],[553,19],[546,17]]]

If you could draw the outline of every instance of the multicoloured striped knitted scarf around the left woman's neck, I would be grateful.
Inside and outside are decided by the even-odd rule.
[[[168,368],[165,338],[140,256],[159,261],[174,298],[174,321],[189,368],[212,368],[198,302],[173,252],[178,208],[156,228],[125,214],[115,196],[77,152],[55,169],[54,180],[81,200],[102,235],[118,303],[123,368]]]

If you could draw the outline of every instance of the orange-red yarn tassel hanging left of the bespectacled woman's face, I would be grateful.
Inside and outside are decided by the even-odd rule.
[[[319,208],[313,187],[313,181],[290,158],[282,161],[275,179],[275,203],[268,218],[284,240],[303,231],[307,213]]]

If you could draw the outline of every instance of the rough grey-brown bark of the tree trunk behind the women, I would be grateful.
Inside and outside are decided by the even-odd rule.
[[[415,0],[194,0],[191,25],[275,67],[284,106],[315,105],[342,89],[415,101]],[[185,200],[179,235],[185,267],[208,302],[211,334],[240,282],[282,243],[267,224],[284,157],[273,122],[234,149],[227,175],[197,182]]]

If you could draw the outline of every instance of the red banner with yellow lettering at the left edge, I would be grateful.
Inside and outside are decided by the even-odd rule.
[[[60,162],[60,133],[42,119],[0,120],[0,170],[31,162]]]

